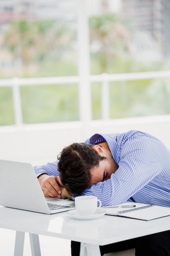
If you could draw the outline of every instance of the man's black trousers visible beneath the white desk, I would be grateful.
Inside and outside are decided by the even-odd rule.
[[[170,256],[170,231],[100,246],[101,255],[135,248],[135,256]],[[79,256],[80,243],[71,241],[71,255]]]

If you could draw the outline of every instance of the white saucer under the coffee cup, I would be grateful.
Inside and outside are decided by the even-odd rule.
[[[67,211],[68,216],[76,220],[92,220],[103,216],[106,213],[104,209],[97,209],[93,215],[79,215],[76,210]]]

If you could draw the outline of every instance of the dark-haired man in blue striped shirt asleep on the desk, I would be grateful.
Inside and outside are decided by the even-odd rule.
[[[95,134],[34,169],[44,196],[95,195],[102,206],[129,201],[170,207],[170,150],[144,132]],[[170,231],[100,248],[102,255],[122,248],[136,248],[136,256],[170,255]],[[72,242],[72,256],[78,255],[79,243]]]

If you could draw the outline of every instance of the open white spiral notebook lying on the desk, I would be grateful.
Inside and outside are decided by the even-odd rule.
[[[106,208],[106,215],[134,218],[138,220],[154,220],[170,216],[170,207],[161,207],[153,204],[137,204],[132,208],[123,208],[123,204],[118,208]]]

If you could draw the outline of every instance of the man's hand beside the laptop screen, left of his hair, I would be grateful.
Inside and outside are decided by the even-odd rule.
[[[62,183],[60,177],[50,176],[46,173],[38,177],[42,192],[44,196],[49,196],[53,198],[63,198],[62,197]]]

